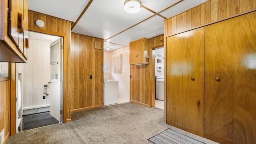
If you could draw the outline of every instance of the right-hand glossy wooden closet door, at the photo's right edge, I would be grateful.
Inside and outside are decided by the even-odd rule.
[[[205,138],[256,143],[256,12],[205,27],[204,118]]]

